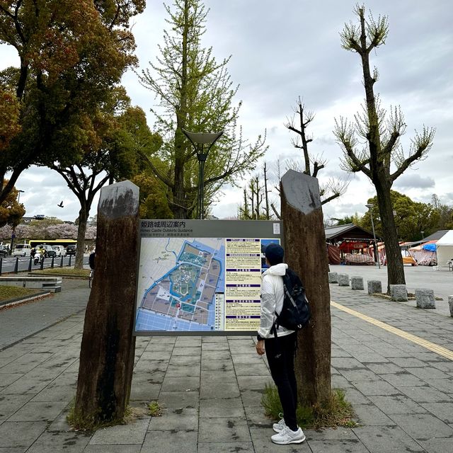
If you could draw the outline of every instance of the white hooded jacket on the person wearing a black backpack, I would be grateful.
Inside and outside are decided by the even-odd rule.
[[[266,269],[261,278],[261,319],[258,335],[262,338],[273,338],[271,328],[276,319],[275,313],[280,314],[283,306],[283,275],[288,265],[285,263],[276,264]],[[277,328],[277,336],[289,335],[294,331],[280,326]]]

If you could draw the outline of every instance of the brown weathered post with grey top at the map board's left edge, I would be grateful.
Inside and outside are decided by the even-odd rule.
[[[84,425],[121,420],[129,401],[138,223],[136,185],[123,181],[101,190],[96,269],[86,307],[74,408]]]

